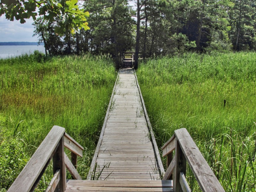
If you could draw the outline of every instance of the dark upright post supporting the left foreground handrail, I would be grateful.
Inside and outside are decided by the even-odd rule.
[[[55,191],[64,192],[67,186],[66,167],[64,162],[64,135],[62,135],[59,146],[52,157],[52,163],[53,163],[53,174],[55,174],[57,170],[60,170],[60,181]]]

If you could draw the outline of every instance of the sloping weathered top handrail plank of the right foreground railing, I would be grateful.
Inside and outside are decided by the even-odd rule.
[[[188,131],[182,128],[174,131],[174,134],[202,191],[224,192]]]

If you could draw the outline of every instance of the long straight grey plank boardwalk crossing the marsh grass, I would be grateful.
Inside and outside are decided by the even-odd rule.
[[[160,180],[159,162],[131,68],[119,71],[101,133],[88,180],[101,171],[100,180]]]

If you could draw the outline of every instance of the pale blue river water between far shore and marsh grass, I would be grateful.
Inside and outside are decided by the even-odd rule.
[[[44,45],[0,45],[0,58],[16,57],[35,50],[44,53]]]

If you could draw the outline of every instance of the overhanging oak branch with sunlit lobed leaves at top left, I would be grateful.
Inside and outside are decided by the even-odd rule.
[[[56,27],[56,33],[63,36],[70,31],[74,35],[77,28],[90,29],[86,22],[89,12],[84,12],[84,9],[79,8],[76,5],[77,2],[78,0],[2,0],[0,16],[5,14],[6,19],[13,21],[15,18],[20,20],[20,23],[25,23],[25,19],[30,17],[36,20],[37,15],[44,15],[44,18],[50,22],[60,19],[61,22]]]

